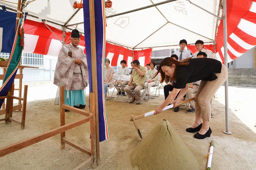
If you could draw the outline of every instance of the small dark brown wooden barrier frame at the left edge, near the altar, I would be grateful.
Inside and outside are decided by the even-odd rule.
[[[0,99],[6,98],[6,108],[0,110],[0,115],[5,114],[4,119],[0,119],[0,121],[5,121],[5,124],[9,124],[11,122],[15,122],[21,125],[21,130],[25,128],[25,120],[26,120],[26,108],[27,108],[27,94],[28,94],[28,85],[24,85],[24,94],[23,98],[14,96],[14,84],[12,84],[9,89],[7,96],[1,96]],[[13,99],[19,100],[19,104],[17,106],[13,106]],[[21,101],[23,103],[21,104]],[[22,109],[21,122],[12,118],[12,112],[15,110]]]

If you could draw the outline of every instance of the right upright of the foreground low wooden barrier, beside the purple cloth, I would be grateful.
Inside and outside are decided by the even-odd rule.
[[[92,113],[91,121],[91,155],[93,158],[92,168],[97,166],[97,140],[96,140],[96,117],[95,117],[95,93],[91,92],[89,95],[90,98],[90,113]]]

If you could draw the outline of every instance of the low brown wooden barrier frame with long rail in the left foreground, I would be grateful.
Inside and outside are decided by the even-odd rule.
[[[86,118],[83,118],[79,121],[72,122],[65,124],[65,109],[68,109],[72,112],[78,113],[80,115],[86,116]],[[30,146],[32,144],[36,144],[37,142],[43,141],[47,138],[53,137],[57,134],[60,134],[60,148],[64,149],[65,144],[68,144],[75,149],[87,154],[90,156],[90,158],[86,159],[82,164],[77,166],[75,170],[81,170],[85,167],[92,164],[92,168],[95,168],[97,166],[97,140],[96,140],[96,108],[95,108],[95,93],[90,93],[90,113],[87,113],[84,110],[71,107],[68,105],[65,105],[65,99],[64,99],[64,87],[60,87],[60,127],[49,130],[47,132],[44,132],[43,134],[36,135],[34,137],[30,137],[24,140],[21,140],[19,142],[16,142],[14,144],[10,144],[8,146],[0,148],[0,157],[5,156],[9,153],[18,151],[20,149],[23,149],[27,146]],[[79,144],[76,144],[72,140],[68,139],[66,137],[65,132],[69,129],[75,128],[79,125],[82,125],[86,122],[90,122],[90,129],[91,129],[91,149],[85,148],[84,146],[81,146]]]

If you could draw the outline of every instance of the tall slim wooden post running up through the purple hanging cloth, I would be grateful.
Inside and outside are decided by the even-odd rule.
[[[99,108],[98,108],[98,86],[97,86],[97,60],[96,60],[96,38],[95,38],[95,14],[94,0],[89,0],[90,8],[90,32],[91,32],[91,55],[92,55],[92,92],[95,93],[95,117],[96,117],[96,147],[97,164],[100,163],[100,136],[99,136]]]

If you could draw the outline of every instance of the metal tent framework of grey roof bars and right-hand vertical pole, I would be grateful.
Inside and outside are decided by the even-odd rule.
[[[118,14],[114,14],[114,15],[109,15],[107,16],[106,18],[112,18],[112,17],[116,17],[116,16],[120,16],[120,15],[124,15],[124,14],[127,14],[127,13],[131,13],[131,12],[135,12],[135,11],[140,11],[140,10],[144,10],[144,9],[147,9],[147,8],[151,8],[151,7],[155,7],[160,13],[161,15],[166,19],[166,23],[163,25],[165,26],[166,24],[170,23],[170,24],[173,24],[175,26],[178,26],[182,29],[185,29],[187,31],[190,31],[191,33],[195,33],[199,36],[203,36],[199,33],[196,33],[196,32],[193,32],[187,28],[184,28],[182,26],[179,26],[175,23],[172,23],[170,21],[168,21],[168,19],[163,15],[163,13],[157,8],[158,5],[162,5],[162,4],[166,4],[166,3],[170,3],[170,2],[174,2],[176,0],[167,0],[167,1],[163,1],[163,2],[160,2],[160,3],[156,3],[154,4],[152,0],[150,0],[150,2],[152,3],[152,5],[148,5],[148,6],[144,6],[144,7],[141,7],[141,8],[137,8],[137,9],[134,9],[134,10],[130,10],[130,11],[126,11],[126,12],[121,12],[121,13],[118,13]],[[190,0],[187,0],[190,4],[193,4],[195,5],[196,7],[198,7],[199,9],[211,14],[212,16],[216,17],[216,26],[215,26],[215,40],[212,40],[211,38],[208,38],[208,37],[205,37],[203,36],[204,38],[207,38],[211,41],[208,41],[208,42],[205,42],[205,43],[213,43],[214,45],[214,50],[215,50],[215,42],[216,42],[216,33],[217,33],[217,30],[218,30],[218,22],[220,19],[223,20],[223,31],[224,31],[224,60],[225,60],[225,66],[228,67],[228,62],[227,62],[227,54],[228,54],[228,50],[227,50],[227,19],[226,19],[226,14],[227,14],[227,0],[222,0],[222,5],[220,4],[219,5],[219,9],[218,9],[218,15],[215,15],[213,14],[212,12],[210,11],[207,11],[205,10],[204,8],[200,7],[199,5],[196,5],[194,3],[192,3]],[[2,4],[6,4],[6,3],[3,3],[1,2]],[[92,3],[90,1],[90,3]],[[6,4],[6,5],[9,5],[9,4]],[[91,4],[90,4],[91,5]],[[219,16],[219,13],[220,13],[220,9],[221,9],[221,6],[223,7],[223,17],[220,17]],[[2,5],[0,5],[0,7],[2,7]],[[6,7],[6,9],[9,9],[9,10],[13,10],[13,11],[16,11],[15,9],[13,8],[9,8],[9,7]],[[65,43],[65,31],[66,29],[69,29],[69,30],[73,30],[74,28],[70,28],[70,26],[77,26],[77,25],[80,25],[80,24],[84,24],[84,22],[79,22],[79,23],[75,23],[75,24],[70,24],[68,25],[68,23],[72,20],[72,18],[74,18],[74,16],[78,13],[80,9],[77,9],[73,15],[64,23],[64,24],[59,24],[57,21],[52,21],[52,20],[44,20],[45,22],[49,22],[49,23],[52,23],[52,24],[55,24],[55,25],[58,25],[58,26],[61,26],[62,27],[62,31],[63,31],[63,36],[62,36],[62,44]],[[29,14],[29,16],[33,17],[33,18],[38,18],[38,16],[36,15],[32,15],[32,14]],[[153,33],[151,33],[147,38],[145,38],[144,40],[142,40],[139,44],[141,44],[143,41],[145,41],[146,39],[148,39],[150,36],[152,36],[154,33],[156,33],[159,29],[161,29],[163,26],[159,27],[156,31],[154,31]],[[50,29],[50,28],[49,28]],[[51,30],[51,29],[50,29]],[[83,33],[84,34],[84,33]],[[56,35],[55,35],[56,36]],[[57,37],[57,36],[56,36]],[[58,38],[59,39],[59,38]],[[134,49],[143,49],[143,48],[156,48],[156,47],[172,47],[172,46],[178,46],[177,45],[170,45],[170,46],[155,46],[155,47],[143,47],[143,48],[136,48],[139,44],[137,44],[136,46],[134,47],[128,47],[128,46],[124,46],[122,44],[118,44],[118,43],[115,43],[115,42],[111,42],[111,41],[107,41],[107,42],[110,42],[110,43],[113,43],[113,44],[116,44],[116,45],[120,45],[122,47],[126,47],[126,48],[130,48],[132,50],[132,55],[134,57]],[[226,112],[226,130],[223,130],[224,133],[226,134],[232,134],[232,132],[229,131],[229,109],[228,109],[228,79],[225,81],[225,112]]]

